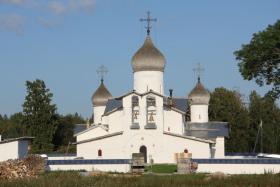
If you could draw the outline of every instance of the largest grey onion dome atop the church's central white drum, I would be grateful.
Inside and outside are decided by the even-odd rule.
[[[137,71],[162,71],[164,72],[165,58],[163,54],[154,46],[150,36],[142,47],[132,57],[133,72]]]

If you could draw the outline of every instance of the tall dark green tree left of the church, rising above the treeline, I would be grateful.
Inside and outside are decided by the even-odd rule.
[[[25,133],[34,136],[32,151],[51,152],[53,136],[58,124],[56,105],[52,104],[53,94],[44,81],[26,81],[27,95],[23,104],[23,125]]]

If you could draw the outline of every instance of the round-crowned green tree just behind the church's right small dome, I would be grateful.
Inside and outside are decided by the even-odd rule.
[[[225,141],[227,152],[250,151],[247,141],[249,114],[238,92],[216,88],[211,93],[209,118],[229,123],[229,138]]]

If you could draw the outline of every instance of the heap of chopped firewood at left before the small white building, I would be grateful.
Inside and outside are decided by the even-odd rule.
[[[37,155],[30,155],[23,160],[0,162],[0,179],[36,177],[45,171],[45,160]]]

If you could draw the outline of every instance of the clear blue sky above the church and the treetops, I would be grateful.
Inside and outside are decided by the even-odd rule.
[[[132,90],[131,58],[146,31],[167,59],[165,93],[185,97],[195,85],[237,89],[244,96],[267,88],[240,76],[233,52],[280,18],[279,0],[0,0],[0,114],[22,110],[25,81],[42,79],[62,114],[91,115],[91,95],[104,64],[113,96]]]

